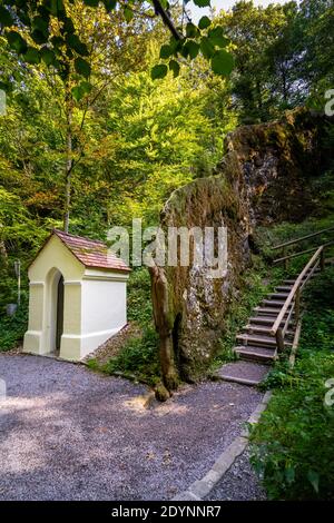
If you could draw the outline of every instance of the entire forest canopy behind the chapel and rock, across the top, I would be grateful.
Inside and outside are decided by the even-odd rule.
[[[323,110],[332,1],[239,1],[198,27],[187,2],[159,2],[174,29],[155,3],[0,2],[1,310],[13,259],[27,267],[52,227],[105,239],[132,217],[156,224],[174,189],[213,172],[238,124]]]

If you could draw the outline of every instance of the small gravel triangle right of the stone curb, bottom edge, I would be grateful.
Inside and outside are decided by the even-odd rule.
[[[249,463],[246,450],[205,497],[207,501],[264,501],[266,494]]]

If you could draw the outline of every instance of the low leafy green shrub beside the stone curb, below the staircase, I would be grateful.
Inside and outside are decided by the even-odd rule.
[[[252,463],[272,500],[334,496],[334,407],[324,404],[331,377],[333,355],[307,351],[252,434]]]

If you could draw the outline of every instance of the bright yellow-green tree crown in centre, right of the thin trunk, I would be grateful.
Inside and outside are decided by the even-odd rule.
[[[91,142],[92,176],[98,184],[104,176],[109,187],[104,205],[112,224],[128,225],[132,217],[156,224],[171,191],[203,169],[199,161],[209,174],[222,154],[205,87],[194,91],[183,75],[160,82],[147,71],[121,77],[108,96],[107,132]]]

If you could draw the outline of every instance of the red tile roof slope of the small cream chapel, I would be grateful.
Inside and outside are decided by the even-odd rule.
[[[53,229],[52,233],[58,236],[85,267],[97,267],[126,273],[131,270],[121,258],[118,258],[109,251],[108,246],[102,241],[69,235],[59,229]]]

